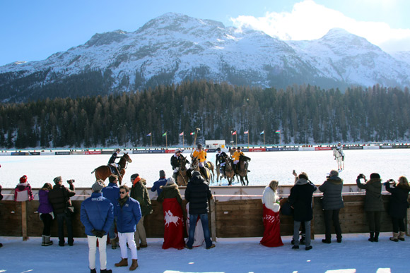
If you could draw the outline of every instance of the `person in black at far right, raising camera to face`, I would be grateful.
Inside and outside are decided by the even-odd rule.
[[[399,183],[396,183],[393,179],[389,179],[385,182],[386,190],[392,193],[390,196],[389,215],[392,217],[393,237],[390,237],[390,240],[394,242],[404,241],[404,236],[406,235],[404,219],[409,208],[409,181],[407,181],[405,176],[400,176],[398,181]],[[390,183],[392,183],[392,187],[390,187]]]

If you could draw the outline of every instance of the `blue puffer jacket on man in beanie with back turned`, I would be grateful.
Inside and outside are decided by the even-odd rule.
[[[86,227],[86,234],[94,236],[91,231],[108,232],[114,221],[113,206],[102,193],[93,193],[81,203],[81,223]]]

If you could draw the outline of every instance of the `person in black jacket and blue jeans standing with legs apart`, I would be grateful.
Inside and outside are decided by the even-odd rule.
[[[209,190],[208,183],[206,183],[199,171],[194,171],[185,189],[185,199],[189,202],[189,239],[186,245],[188,249],[192,249],[192,244],[194,243],[195,227],[197,226],[198,217],[201,218],[206,249],[215,248],[215,245],[211,241],[208,226],[208,202],[211,198],[212,194],[211,190]]]

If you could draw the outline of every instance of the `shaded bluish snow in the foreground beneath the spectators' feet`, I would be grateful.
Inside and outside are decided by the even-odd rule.
[[[283,236],[279,248],[259,245],[261,238],[218,238],[211,250],[163,250],[162,238],[148,238],[148,248],[138,250],[136,272],[407,272],[410,239],[396,243],[389,236],[381,233],[378,243],[370,243],[368,234],[344,234],[342,243],[329,245],[316,236],[309,251],[303,245],[291,249],[291,236]],[[89,272],[86,238],[75,238],[74,246],[64,248],[43,247],[41,238],[0,237],[0,242],[0,272]],[[114,267],[119,260],[119,248],[108,246],[107,269],[129,272],[128,267]],[[97,269],[98,261],[97,256]]]

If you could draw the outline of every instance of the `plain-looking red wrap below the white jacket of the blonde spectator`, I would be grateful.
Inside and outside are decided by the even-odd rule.
[[[281,239],[281,218],[279,212],[269,210],[264,205],[264,237],[260,243],[268,247],[283,245]]]

